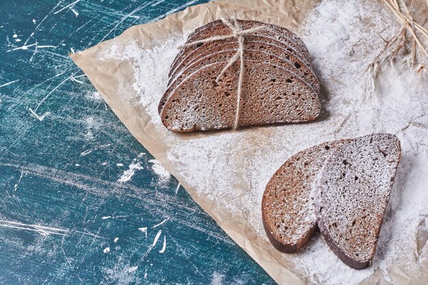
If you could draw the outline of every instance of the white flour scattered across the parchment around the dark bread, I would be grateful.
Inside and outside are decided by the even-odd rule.
[[[382,5],[377,1],[323,1],[297,31],[308,46],[323,87],[320,97],[325,110],[318,120],[308,124],[176,135],[163,127],[157,107],[176,46],[183,44],[187,35],[149,51],[137,42],[126,46],[113,42],[102,56],[106,60],[133,62],[134,81],[131,87],[123,86],[121,96],[139,99],[159,136],[171,146],[166,151],[174,173],[195,189],[192,195],[209,202],[219,217],[246,221],[236,231],[245,230],[264,241],[267,238],[260,211],[263,191],[272,174],[291,155],[323,141],[345,137],[376,132],[399,137],[402,159],[373,265],[361,271],[350,269],[316,235],[300,254],[281,256],[282,261],[294,264],[292,271],[309,283],[358,284],[372,273],[397,282],[398,278],[423,271],[420,262],[427,252],[426,241],[418,239],[422,245],[416,250],[415,236],[421,235],[418,225],[428,217],[427,77],[401,70],[399,64],[386,65],[375,92],[366,96],[368,79],[357,76],[384,44],[377,33],[389,38],[399,28]],[[384,31],[384,27],[388,29]],[[150,162],[159,178],[170,179],[159,161]],[[137,160],[120,182],[130,180],[136,169],[141,169]],[[147,228],[139,230],[147,234]],[[403,276],[390,274],[391,269],[399,269]],[[221,275],[213,275],[213,284],[221,282]]]

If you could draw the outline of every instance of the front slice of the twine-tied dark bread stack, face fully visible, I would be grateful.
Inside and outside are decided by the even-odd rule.
[[[161,112],[165,127],[188,132],[234,126],[240,62],[232,64],[216,83],[225,64],[202,67],[172,91]],[[319,115],[317,92],[289,70],[248,59],[244,70],[239,126],[306,122]]]

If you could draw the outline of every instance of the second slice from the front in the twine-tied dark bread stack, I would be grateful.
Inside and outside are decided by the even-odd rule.
[[[183,72],[180,74],[177,74],[176,79],[167,87],[167,90],[163,94],[161,101],[159,103],[158,111],[161,113],[163,106],[167,102],[168,98],[170,98],[172,94],[172,90],[176,88],[183,80],[186,80],[187,77],[189,77],[189,74],[192,74],[196,70],[199,70],[203,66],[213,64],[215,62],[223,62],[228,61],[230,57],[232,57],[237,51],[236,50],[230,50],[230,51],[221,51],[218,53],[214,53],[211,55],[208,55],[206,57],[203,57],[202,59],[199,59],[198,61],[191,64],[189,67],[187,67]],[[265,53],[264,51],[252,51],[245,49],[243,53],[244,61],[246,60],[259,60],[262,62],[270,62],[271,64],[275,64],[278,66],[282,66],[295,74],[297,79],[304,80],[302,77],[299,76],[299,74],[294,73],[293,70],[295,70],[295,66],[293,64],[289,64],[289,62],[286,62],[286,59],[282,59],[280,57],[277,57],[275,55],[271,55],[269,53]],[[226,66],[226,64],[224,64]],[[299,71],[299,70],[297,70]],[[220,74],[221,70],[219,70]],[[218,76],[218,74],[217,74]],[[316,77],[310,77],[309,74],[306,76],[307,79],[310,79],[310,81],[306,80],[304,81],[306,84],[308,84],[314,91],[318,94],[319,93],[319,83],[317,81]],[[235,76],[237,79],[237,76]],[[291,81],[292,79],[288,79],[288,81]],[[288,82],[287,81],[287,82]],[[317,88],[317,90],[315,90]]]

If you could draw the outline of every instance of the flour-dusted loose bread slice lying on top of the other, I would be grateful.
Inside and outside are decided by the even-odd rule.
[[[321,170],[317,223],[330,249],[353,269],[371,264],[400,157],[399,139],[379,133],[339,146]]]

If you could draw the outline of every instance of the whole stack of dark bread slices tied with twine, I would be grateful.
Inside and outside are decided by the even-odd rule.
[[[243,31],[242,48],[225,21]],[[241,49],[242,59],[224,70]],[[319,115],[319,90],[308,50],[295,33],[257,21],[219,20],[191,33],[176,56],[159,114],[177,132],[306,122]]]

